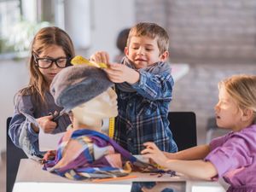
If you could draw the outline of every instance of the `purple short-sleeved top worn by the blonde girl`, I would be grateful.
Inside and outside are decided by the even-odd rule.
[[[256,125],[230,132],[210,143],[209,160],[230,183],[228,191],[256,191]]]

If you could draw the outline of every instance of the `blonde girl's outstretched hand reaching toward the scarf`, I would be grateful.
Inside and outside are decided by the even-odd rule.
[[[159,166],[166,167],[166,163],[169,160],[166,155],[160,151],[160,149],[154,143],[143,143],[146,147],[142,150],[141,154],[149,160],[154,160]]]

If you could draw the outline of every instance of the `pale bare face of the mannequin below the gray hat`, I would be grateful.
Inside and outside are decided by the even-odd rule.
[[[115,117],[118,114],[117,95],[113,89],[108,88],[89,102],[84,102],[73,108],[72,112],[73,117],[84,125],[91,125],[96,120]]]

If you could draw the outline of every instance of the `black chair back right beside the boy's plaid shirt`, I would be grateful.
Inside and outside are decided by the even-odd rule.
[[[169,128],[178,150],[195,147],[197,144],[195,113],[169,112],[168,119],[170,121]]]

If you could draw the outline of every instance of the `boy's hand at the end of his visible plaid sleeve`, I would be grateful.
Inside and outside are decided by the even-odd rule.
[[[104,69],[104,71],[113,83],[127,82],[129,84],[135,84],[140,79],[140,73],[119,63],[109,64],[108,68]]]

